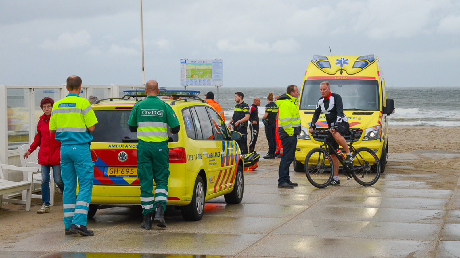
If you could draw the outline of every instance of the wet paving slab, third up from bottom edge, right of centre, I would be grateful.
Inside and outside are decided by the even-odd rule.
[[[312,206],[297,218],[441,224],[446,213],[426,209]]]

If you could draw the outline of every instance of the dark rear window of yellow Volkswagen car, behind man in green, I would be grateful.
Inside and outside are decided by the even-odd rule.
[[[131,110],[95,110],[98,118],[96,129],[92,132],[93,142],[137,142],[136,132],[131,132],[128,118]],[[170,142],[177,142],[178,135],[171,134],[168,128]]]

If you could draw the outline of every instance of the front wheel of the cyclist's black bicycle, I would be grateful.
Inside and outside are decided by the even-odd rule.
[[[324,149],[315,148],[305,158],[305,174],[308,181],[318,188],[329,185],[334,176],[334,163],[331,156]]]

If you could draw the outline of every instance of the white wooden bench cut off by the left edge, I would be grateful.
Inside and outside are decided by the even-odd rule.
[[[23,181],[14,182],[6,180],[4,173],[6,173],[7,170],[23,171],[23,174],[25,175]],[[36,172],[38,172],[38,168],[23,168],[0,164],[0,208],[2,207],[3,202],[22,203],[26,205],[26,211],[29,211],[30,201],[32,198],[32,179],[34,173]],[[17,192],[25,192],[25,200],[7,198],[8,194]],[[3,197],[3,195],[5,195],[5,197]]]

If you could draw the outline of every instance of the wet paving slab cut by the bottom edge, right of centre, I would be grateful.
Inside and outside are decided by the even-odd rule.
[[[430,257],[429,241],[270,235],[247,248],[244,256],[357,258]]]

